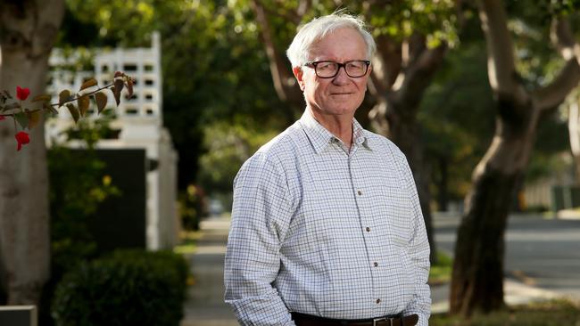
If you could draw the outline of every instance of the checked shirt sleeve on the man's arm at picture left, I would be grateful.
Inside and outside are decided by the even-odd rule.
[[[265,155],[254,155],[234,181],[224,269],[225,301],[242,325],[294,325],[272,286],[293,211],[285,175]]]

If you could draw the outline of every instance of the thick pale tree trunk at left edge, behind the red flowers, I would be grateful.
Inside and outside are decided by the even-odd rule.
[[[62,0],[0,1],[0,89],[44,93],[63,13]],[[0,259],[8,304],[36,305],[50,270],[44,126],[17,152],[11,120],[0,122]]]

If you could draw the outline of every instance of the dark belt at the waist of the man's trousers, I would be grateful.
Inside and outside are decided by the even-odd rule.
[[[311,314],[292,313],[292,320],[296,326],[414,326],[417,325],[418,315],[385,316],[373,319],[329,319]]]

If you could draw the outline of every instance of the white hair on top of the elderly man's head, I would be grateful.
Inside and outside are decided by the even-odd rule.
[[[366,29],[365,22],[350,14],[335,12],[311,20],[298,31],[292,44],[286,50],[286,55],[292,63],[292,67],[301,67],[306,63],[309,60],[308,55],[311,46],[336,29],[354,29],[358,31],[367,45],[367,60],[370,60],[377,49],[377,45]]]

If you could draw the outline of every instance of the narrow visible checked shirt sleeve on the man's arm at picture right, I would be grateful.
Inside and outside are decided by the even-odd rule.
[[[410,237],[409,254],[415,271],[415,293],[403,311],[404,315],[418,314],[418,326],[427,326],[431,315],[431,289],[427,284],[429,278],[429,241],[425,220],[421,213],[417,187],[410,171],[407,159],[403,156],[403,175],[407,183],[412,206],[413,230]]]

